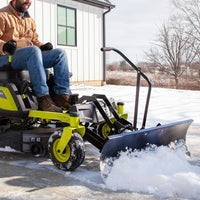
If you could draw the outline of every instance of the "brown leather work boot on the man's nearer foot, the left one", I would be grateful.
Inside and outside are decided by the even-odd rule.
[[[62,109],[55,105],[49,95],[38,98],[38,110],[49,112],[62,112]]]

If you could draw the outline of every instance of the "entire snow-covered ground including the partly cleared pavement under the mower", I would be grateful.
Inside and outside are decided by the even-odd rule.
[[[73,85],[73,93],[79,96],[105,94],[125,103],[125,112],[133,120],[135,87],[91,87]],[[138,127],[143,118],[147,88],[141,88]],[[86,159],[74,172],[54,168],[49,160],[27,157],[13,152],[0,152],[0,199],[200,199],[200,91],[153,88],[146,127],[193,119],[187,134],[187,157],[182,146],[159,147],[154,151],[123,153],[105,182],[99,168],[99,152],[86,142]],[[12,151],[12,149],[0,149]],[[27,160],[26,160],[27,159]],[[9,172],[8,168],[12,172]],[[20,169],[24,171],[21,172]],[[15,173],[16,170],[16,173]],[[45,175],[45,173],[47,175]],[[35,178],[30,175],[36,174]],[[49,175],[48,175],[49,173]],[[27,175],[29,174],[29,176]],[[39,174],[39,175],[37,175]],[[29,177],[29,182],[22,177]],[[45,176],[45,177],[44,177]],[[20,178],[21,182],[10,179]],[[56,183],[50,183],[52,179]],[[25,181],[25,182],[23,182]],[[26,183],[27,181],[27,183]],[[31,181],[31,183],[30,183]],[[49,182],[48,182],[49,181]],[[15,184],[14,184],[14,183]],[[60,182],[60,184],[59,184]],[[12,184],[11,184],[12,183]],[[48,184],[47,184],[48,183]],[[27,184],[27,186],[25,186]],[[36,185],[39,186],[36,187]],[[32,189],[24,189],[24,188]],[[34,187],[37,190],[34,190]],[[39,188],[39,189],[38,189]],[[66,191],[67,195],[63,192]]]

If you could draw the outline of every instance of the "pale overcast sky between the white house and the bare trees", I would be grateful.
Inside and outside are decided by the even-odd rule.
[[[133,62],[145,59],[159,27],[172,14],[171,0],[110,0],[116,7],[106,15],[106,46],[118,48]],[[107,54],[107,62],[121,60]]]

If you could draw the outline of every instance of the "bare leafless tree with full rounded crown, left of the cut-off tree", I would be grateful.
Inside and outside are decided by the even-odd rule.
[[[170,21],[169,25],[163,24],[157,42],[146,55],[159,70],[174,77],[177,89],[179,77],[196,56],[190,35],[185,34],[180,22],[174,21]]]

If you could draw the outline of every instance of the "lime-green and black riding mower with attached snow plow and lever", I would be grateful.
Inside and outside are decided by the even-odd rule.
[[[100,150],[101,161],[115,158],[127,149],[185,141],[191,119],[145,128],[151,83],[119,50],[102,48],[102,51],[111,50],[119,53],[137,72],[133,124],[123,112],[122,102],[115,103],[102,94],[80,98],[71,94],[71,107],[63,113],[39,111],[28,72],[14,71],[8,63],[0,68],[0,147],[10,146],[35,156],[48,155],[57,168],[71,171],[84,161],[85,140]],[[53,74],[49,71],[46,74],[53,98]],[[140,78],[147,81],[149,89],[142,127],[138,129]]]

